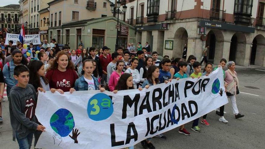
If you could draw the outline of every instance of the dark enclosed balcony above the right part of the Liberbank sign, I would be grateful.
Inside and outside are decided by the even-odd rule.
[[[252,4],[235,3],[235,23],[249,25],[251,21]]]

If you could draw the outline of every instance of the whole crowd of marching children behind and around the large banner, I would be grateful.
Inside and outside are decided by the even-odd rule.
[[[56,46],[58,44],[55,43]],[[156,51],[152,52],[150,56],[146,54],[145,48],[138,50],[136,55],[122,47],[110,54],[110,48],[106,46],[98,49],[97,55],[96,48],[91,47],[87,51],[82,45],[79,45],[77,50],[70,50],[68,45],[64,45],[60,51],[58,48],[50,47],[45,49],[40,47],[39,50],[40,52],[36,54],[39,60],[28,61],[21,50],[11,49],[11,60],[0,71],[0,101],[3,98],[5,83],[13,138],[17,139],[20,148],[30,148],[33,135],[37,141],[41,132],[45,131],[45,127],[38,122],[34,113],[38,91],[51,91],[52,93],[57,91],[64,94],[64,92],[86,90],[104,92],[108,90],[117,93],[120,90],[136,88],[142,90],[142,88],[149,88],[159,83],[168,83],[172,79],[200,78],[204,75],[208,76],[212,72],[212,64],[207,63],[201,73],[201,63],[197,62],[193,55],[188,57],[187,62],[181,58],[171,61],[168,57],[160,61]],[[231,62],[229,67],[232,68],[232,64]],[[225,65],[226,60],[222,59],[219,67],[224,68]],[[227,80],[225,86],[229,86],[231,84],[229,79],[235,77],[236,73],[233,73],[232,69],[230,72],[223,73],[224,79]],[[231,92],[231,95],[228,96],[234,102],[235,118],[243,117],[244,115],[238,112],[233,95],[235,93]],[[29,108],[30,106],[33,107]],[[227,123],[228,121],[223,116],[223,110],[224,106],[217,110],[217,114],[220,115],[219,121]],[[3,121],[1,111],[2,108],[0,109],[0,118]],[[207,114],[200,122],[209,126],[206,116]],[[199,118],[193,121],[191,130],[201,132],[198,122]],[[179,133],[190,135],[184,125],[180,126]],[[163,134],[155,137],[167,138]],[[155,148],[151,143],[151,138],[141,141],[141,144],[144,148]],[[36,142],[34,142],[35,145]]]

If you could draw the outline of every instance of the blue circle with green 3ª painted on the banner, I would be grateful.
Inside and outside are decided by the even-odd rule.
[[[92,96],[87,105],[88,117],[95,121],[106,120],[113,113],[111,98],[103,93]]]

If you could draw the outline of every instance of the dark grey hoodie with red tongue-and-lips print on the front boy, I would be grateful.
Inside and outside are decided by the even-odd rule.
[[[25,138],[29,133],[35,132],[38,124],[35,116],[37,94],[33,85],[26,88],[13,86],[9,98],[10,122],[13,129],[13,141]]]

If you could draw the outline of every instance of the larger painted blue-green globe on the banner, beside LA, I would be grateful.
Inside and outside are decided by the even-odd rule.
[[[75,126],[73,114],[67,109],[59,109],[51,116],[50,125],[61,137],[66,137]]]

